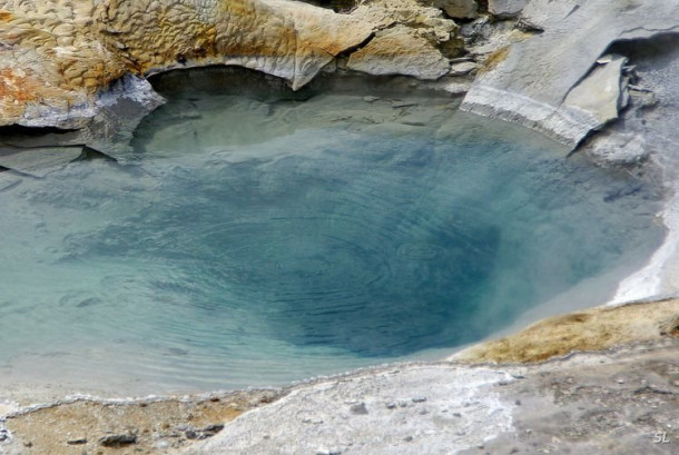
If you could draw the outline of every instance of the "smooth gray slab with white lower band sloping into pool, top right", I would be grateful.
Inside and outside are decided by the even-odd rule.
[[[596,112],[564,99],[618,40],[679,31],[679,3],[665,0],[533,0],[521,21],[544,32],[495,55],[462,109],[514,121],[575,147],[598,123]]]

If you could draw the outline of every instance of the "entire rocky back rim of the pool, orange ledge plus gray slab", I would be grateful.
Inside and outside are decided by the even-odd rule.
[[[462,29],[450,18],[478,17],[473,0],[322,3],[343,13],[289,0],[2,0],[0,125],[83,128],[118,80],[130,92],[112,97],[149,110],[152,90],[130,78],[173,69],[236,65],[301,88],[324,68],[435,80],[466,53],[481,70],[463,109],[575,147],[627,106],[633,69],[607,49],[679,32],[679,6],[662,0],[493,0],[482,13],[518,18]]]

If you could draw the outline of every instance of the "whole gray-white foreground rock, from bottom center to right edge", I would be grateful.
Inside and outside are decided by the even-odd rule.
[[[398,373],[382,368],[323,379],[295,387],[282,399],[244,414],[227,423],[220,434],[180,453],[327,454],[336,447],[343,454],[476,455],[512,451],[533,454],[551,446],[551,453],[601,453],[602,434],[610,431],[599,428],[609,422],[622,426],[616,431],[616,438],[606,439],[606,453],[648,453],[651,435],[665,425],[672,428],[668,438],[677,437],[676,393],[668,393],[669,386],[640,388],[643,380],[669,384],[679,358],[679,344],[671,343],[673,347],[655,353],[629,349],[579,354],[531,366],[440,363],[407,365]],[[624,384],[602,387],[621,372]],[[511,380],[514,375],[525,378]],[[495,387],[500,380],[510,384]],[[412,399],[404,408],[383,405],[396,402],[394,397],[404,393],[426,396],[430,413],[420,415],[422,406],[412,405]],[[657,406],[652,409],[655,425],[660,429],[637,418],[640,413],[649,413],[646,402],[651,398]],[[338,403],[355,404],[357,399],[371,408],[368,415],[352,418],[337,412]],[[462,408],[463,413],[453,413]],[[324,424],[305,425],[299,415]],[[602,421],[600,416],[617,421]],[[485,452],[479,452],[479,446]],[[653,453],[669,454],[671,448],[658,447]]]

